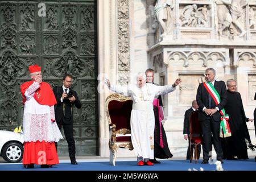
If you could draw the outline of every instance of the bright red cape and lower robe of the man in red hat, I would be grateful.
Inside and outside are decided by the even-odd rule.
[[[33,83],[34,81],[28,81],[20,86],[20,91],[22,92],[22,96],[23,96],[23,104],[27,101],[26,96],[24,96],[24,94],[26,90],[30,88],[30,86]],[[56,99],[52,92],[51,86],[46,82],[42,82],[40,84],[40,87],[35,91],[36,93],[34,92],[34,96],[31,99],[35,99],[35,101],[38,102],[38,104],[47,105],[49,107],[53,107],[56,104]],[[54,110],[53,110],[53,114],[54,114]],[[55,118],[53,118],[52,120],[55,120]],[[47,126],[44,123],[43,125]],[[24,132],[26,131],[24,130]],[[34,140],[35,139],[26,141],[24,139],[23,164],[39,164],[39,165],[59,164],[59,159],[57,156],[54,140],[51,142],[46,142],[46,140],[41,140],[41,141],[40,140],[34,141]]]

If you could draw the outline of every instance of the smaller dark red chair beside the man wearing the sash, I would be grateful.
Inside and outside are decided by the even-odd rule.
[[[198,120],[198,110],[193,111],[189,115],[189,138],[190,138],[190,163],[192,163],[193,160],[193,151],[192,151],[192,145],[195,145],[195,163],[197,163],[197,145],[203,143],[203,135],[201,132],[201,125],[200,121]]]

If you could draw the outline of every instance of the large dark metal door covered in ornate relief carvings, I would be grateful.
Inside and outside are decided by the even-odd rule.
[[[96,0],[44,1],[46,16],[39,2],[0,1],[0,130],[23,124],[20,85],[36,63],[52,87],[73,75],[82,102],[73,110],[77,155],[98,155]],[[58,152],[68,155],[65,140]]]

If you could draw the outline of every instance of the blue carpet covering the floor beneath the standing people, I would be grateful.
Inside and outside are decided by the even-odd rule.
[[[1,164],[0,171],[188,171],[189,168],[204,171],[216,170],[214,164],[189,163],[189,160],[161,160],[161,164],[155,166],[137,166],[135,161],[116,162],[116,166],[110,166],[109,162],[79,162],[79,165],[60,163],[52,168],[24,169],[22,164]],[[194,162],[194,161],[193,161]],[[225,171],[256,171],[254,159],[248,160],[224,160],[222,168]]]

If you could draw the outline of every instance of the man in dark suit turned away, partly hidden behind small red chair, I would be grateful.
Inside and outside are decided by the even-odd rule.
[[[184,135],[184,139],[187,140],[188,139],[188,151],[187,151],[187,160],[190,159],[191,156],[191,152],[190,152],[190,138],[189,138],[189,115],[198,109],[198,105],[196,103],[196,100],[192,101],[192,107],[190,107],[190,109],[185,111],[185,115],[184,115],[184,125],[183,125],[183,135]],[[195,148],[195,145],[192,145],[192,152],[193,149]],[[199,146],[197,147],[197,159],[200,158],[200,153],[201,153],[201,145],[199,144]]]

